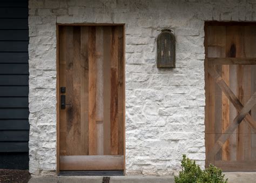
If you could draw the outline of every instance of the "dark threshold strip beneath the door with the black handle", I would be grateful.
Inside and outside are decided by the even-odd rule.
[[[123,170],[104,171],[60,171],[58,176],[123,176]]]

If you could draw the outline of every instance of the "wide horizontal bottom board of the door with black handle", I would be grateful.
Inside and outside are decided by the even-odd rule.
[[[60,156],[60,170],[124,170],[124,155]]]

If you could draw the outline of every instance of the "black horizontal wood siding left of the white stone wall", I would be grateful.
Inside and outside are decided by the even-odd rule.
[[[28,0],[0,1],[0,169],[29,168]]]

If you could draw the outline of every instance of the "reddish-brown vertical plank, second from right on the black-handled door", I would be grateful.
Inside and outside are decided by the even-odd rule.
[[[118,154],[118,29],[112,27],[111,60],[110,60],[110,126],[111,154]]]

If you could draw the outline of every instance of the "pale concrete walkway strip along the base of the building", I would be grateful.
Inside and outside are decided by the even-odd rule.
[[[228,182],[256,182],[256,172],[224,172]],[[103,177],[100,176],[59,176],[59,177],[32,177],[30,183],[34,182],[79,182],[79,183],[102,183]],[[111,176],[110,183],[172,183],[173,176],[143,176],[143,175],[127,175],[127,176]]]

